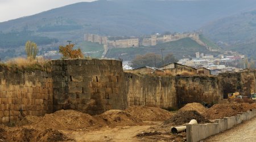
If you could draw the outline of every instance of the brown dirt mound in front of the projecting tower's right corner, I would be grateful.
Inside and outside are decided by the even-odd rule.
[[[122,110],[109,110],[101,115],[93,116],[98,122],[105,123],[108,126],[133,126],[141,124],[142,120],[135,118],[131,114]]]

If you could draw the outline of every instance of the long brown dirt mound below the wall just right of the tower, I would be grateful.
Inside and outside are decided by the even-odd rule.
[[[135,118],[145,121],[163,121],[172,116],[171,112],[156,107],[131,106],[125,111],[129,112]]]

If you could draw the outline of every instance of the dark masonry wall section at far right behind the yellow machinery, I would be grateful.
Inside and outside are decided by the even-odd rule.
[[[255,91],[255,70],[244,70],[242,72],[220,73],[218,77],[222,82],[224,98],[228,93],[240,92],[241,95],[250,96],[251,90]]]

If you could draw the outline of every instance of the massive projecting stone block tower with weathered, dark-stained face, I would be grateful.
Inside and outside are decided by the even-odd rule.
[[[123,77],[118,60],[53,60],[53,110],[89,114],[123,110],[127,106]]]

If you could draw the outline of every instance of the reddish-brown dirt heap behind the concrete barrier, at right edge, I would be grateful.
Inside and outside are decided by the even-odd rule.
[[[241,112],[249,111],[254,108],[253,103],[216,104],[209,108],[203,115],[208,119],[220,119],[241,114]]]

